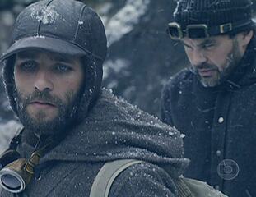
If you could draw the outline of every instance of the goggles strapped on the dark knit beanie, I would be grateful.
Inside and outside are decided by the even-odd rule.
[[[168,24],[167,34],[170,35],[171,39],[179,40],[184,37],[190,39],[207,38],[216,34],[224,34],[233,30],[231,23],[215,26],[209,28],[205,24],[187,25],[185,29],[182,29],[181,25],[176,22]]]

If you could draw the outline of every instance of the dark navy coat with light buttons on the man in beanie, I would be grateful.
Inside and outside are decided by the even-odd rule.
[[[184,69],[161,97],[161,120],[185,134],[184,156],[191,159],[185,175],[232,197],[256,196],[254,43],[223,84],[205,88]]]

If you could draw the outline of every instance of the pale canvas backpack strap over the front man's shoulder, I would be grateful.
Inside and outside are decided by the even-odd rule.
[[[125,169],[137,163],[144,162],[136,159],[119,159],[105,163],[91,186],[90,197],[108,197],[115,178]]]

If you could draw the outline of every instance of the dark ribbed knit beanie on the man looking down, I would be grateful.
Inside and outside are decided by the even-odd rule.
[[[187,25],[204,24],[218,28],[210,35],[239,33],[254,24],[252,10],[251,0],[178,0],[174,18],[183,30]],[[224,25],[222,30],[220,25]]]

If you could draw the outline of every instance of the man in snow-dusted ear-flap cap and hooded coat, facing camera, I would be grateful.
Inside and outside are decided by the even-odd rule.
[[[177,195],[188,164],[180,133],[101,89],[106,52],[100,17],[82,2],[35,2],[17,17],[1,62],[24,128],[0,157],[1,197],[99,196],[92,186],[116,197]],[[111,187],[93,185],[105,163],[128,158],[135,163]]]

